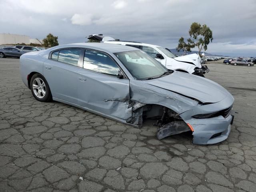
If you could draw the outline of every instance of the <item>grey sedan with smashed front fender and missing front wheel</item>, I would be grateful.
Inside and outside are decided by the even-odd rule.
[[[21,56],[20,73],[39,101],[56,100],[135,127],[154,118],[158,139],[190,131],[194,144],[218,143],[234,118],[234,98],[222,86],[168,70],[130,46],[79,43],[31,52]]]

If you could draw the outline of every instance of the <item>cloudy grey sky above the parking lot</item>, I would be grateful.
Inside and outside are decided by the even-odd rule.
[[[256,56],[256,0],[0,0],[0,33],[85,42],[101,33],[175,48],[192,22],[206,24],[214,40],[207,52]]]

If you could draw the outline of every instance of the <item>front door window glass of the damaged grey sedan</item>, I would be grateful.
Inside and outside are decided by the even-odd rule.
[[[118,75],[119,68],[116,63],[106,54],[85,50],[84,66],[85,69],[108,75]]]

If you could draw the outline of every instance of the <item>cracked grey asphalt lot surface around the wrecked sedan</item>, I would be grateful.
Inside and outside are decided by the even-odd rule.
[[[230,136],[209,146],[191,133],[155,137],[59,102],[35,100],[19,59],[0,59],[0,192],[255,192],[256,66],[207,64],[235,98]],[[202,82],[203,83],[203,82]]]

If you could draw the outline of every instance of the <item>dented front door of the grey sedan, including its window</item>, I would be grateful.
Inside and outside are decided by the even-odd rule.
[[[126,119],[129,80],[118,78],[118,64],[107,53],[85,50],[83,69],[79,70],[78,104],[91,110]]]

